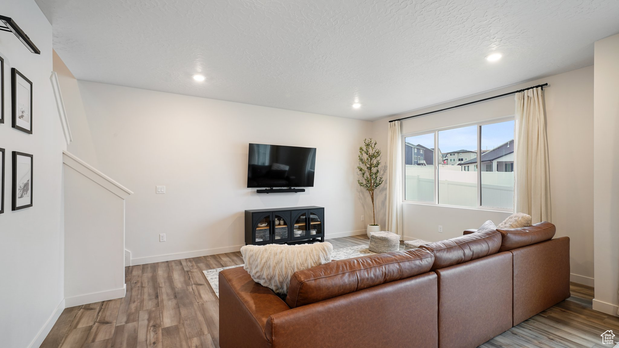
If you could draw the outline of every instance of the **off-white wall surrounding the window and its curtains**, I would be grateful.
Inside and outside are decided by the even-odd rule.
[[[549,84],[544,91],[550,152],[552,222],[556,225],[556,237],[571,238],[572,281],[593,285],[592,66],[374,121],[373,137],[384,146],[387,144],[388,120],[439,110],[544,82]],[[412,118],[402,121],[402,134],[511,116],[514,114],[514,105],[514,97],[509,95],[467,107]],[[386,147],[383,147],[383,152],[386,154]],[[384,199],[385,192],[382,190],[378,200],[384,201]],[[485,220],[491,219],[498,223],[509,215],[504,212],[410,203],[404,203],[403,212],[404,235],[428,241],[456,237],[462,234],[462,230],[477,228]],[[379,216],[381,224],[384,224],[386,217],[384,209]],[[443,233],[438,233],[438,225],[443,225]]]

